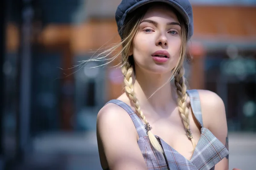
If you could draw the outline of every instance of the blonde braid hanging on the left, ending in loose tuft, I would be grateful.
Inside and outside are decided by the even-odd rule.
[[[129,98],[133,102],[133,104],[135,106],[135,110],[137,112],[137,115],[140,116],[140,118],[143,120],[143,122],[145,123],[145,127],[146,126],[149,127],[148,121],[146,120],[143,112],[140,110],[139,101],[134,92],[134,87],[133,87],[132,77],[131,77],[133,74],[133,68],[128,64],[124,64],[122,66],[122,74],[124,75],[126,94],[129,96]],[[150,129],[147,130],[147,134],[148,134],[148,138],[149,138],[152,146],[159,152],[163,153],[163,149],[162,149],[160,143],[157,141],[157,138],[153,135],[153,133],[151,133]]]

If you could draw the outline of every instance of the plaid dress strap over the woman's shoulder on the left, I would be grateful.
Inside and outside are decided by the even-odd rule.
[[[137,116],[137,114],[134,113],[134,111],[129,105],[127,105],[125,102],[122,102],[121,100],[118,100],[118,99],[110,100],[106,104],[108,103],[114,103],[116,105],[119,105],[130,115],[132,122],[134,122],[134,126],[136,127],[139,137],[147,136],[145,125],[143,124],[142,120]]]

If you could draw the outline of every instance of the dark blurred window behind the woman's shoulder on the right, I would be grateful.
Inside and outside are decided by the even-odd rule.
[[[256,56],[207,55],[205,88],[223,99],[230,131],[256,131]]]

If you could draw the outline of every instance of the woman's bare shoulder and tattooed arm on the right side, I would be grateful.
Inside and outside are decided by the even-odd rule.
[[[212,91],[199,90],[204,127],[228,149],[227,119],[222,99]],[[215,165],[215,170],[228,170],[228,156]]]

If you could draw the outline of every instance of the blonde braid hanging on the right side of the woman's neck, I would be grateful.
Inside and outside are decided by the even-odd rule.
[[[177,71],[177,74],[175,75],[175,86],[177,88],[177,94],[178,94],[178,108],[180,111],[180,116],[183,119],[183,124],[186,129],[187,136],[189,140],[191,140],[193,148],[195,149],[195,140],[193,139],[192,133],[189,129],[189,108],[186,105],[186,84],[185,84],[185,78],[184,76],[184,68],[181,67],[179,71]]]

